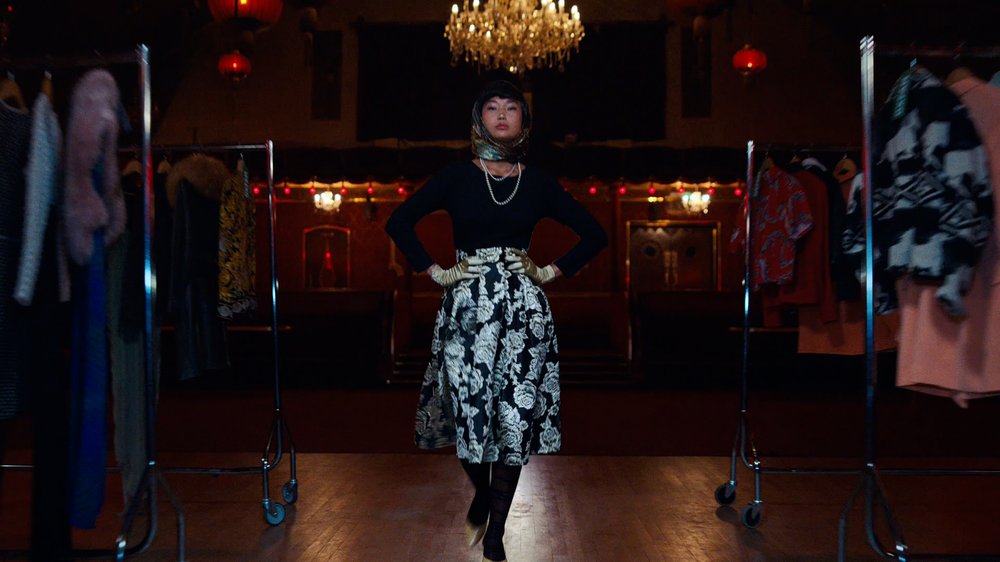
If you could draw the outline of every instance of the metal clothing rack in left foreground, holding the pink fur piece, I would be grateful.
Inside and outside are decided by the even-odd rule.
[[[144,310],[145,321],[143,325],[144,350],[144,371],[146,383],[146,467],[143,471],[142,479],[136,494],[132,497],[125,509],[125,516],[122,520],[122,528],[114,547],[108,550],[74,550],[70,553],[76,559],[99,559],[115,558],[122,560],[125,557],[140,554],[146,551],[156,538],[157,517],[159,508],[157,506],[157,482],[162,486],[171,506],[177,513],[177,559],[184,560],[184,511],[177,496],[167,484],[156,460],[156,403],[155,403],[155,357],[154,342],[155,332],[153,330],[153,303],[156,298],[156,285],[154,283],[154,264],[152,260],[152,235],[153,235],[153,175],[152,175],[152,152],[150,149],[150,130],[152,124],[152,96],[149,76],[149,48],[146,45],[138,45],[132,53],[119,53],[113,55],[101,55],[99,53],[77,56],[77,57],[36,57],[29,59],[0,59],[0,66],[8,69],[20,70],[52,70],[87,68],[109,65],[137,64],[139,67],[139,87],[142,93],[142,186],[143,186],[143,268],[145,278],[144,288]],[[2,465],[0,468],[31,468],[30,465]],[[128,546],[128,533],[132,528],[132,523],[138,513],[142,497],[146,496],[146,513],[148,515],[148,526],[142,541],[135,546]],[[28,551],[6,551],[5,556],[25,557]]]

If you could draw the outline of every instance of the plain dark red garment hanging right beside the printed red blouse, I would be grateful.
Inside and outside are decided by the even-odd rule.
[[[785,305],[819,307],[820,319],[837,319],[837,295],[830,272],[830,204],[826,183],[808,170],[791,173],[798,180],[812,211],[813,227],[796,244],[791,283],[777,292],[765,292],[764,325],[780,326],[780,309]]]

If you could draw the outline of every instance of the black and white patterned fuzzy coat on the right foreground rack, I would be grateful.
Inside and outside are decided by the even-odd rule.
[[[895,281],[909,274],[939,282],[941,305],[964,315],[962,297],[993,225],[989,163],[975,125],[958,97],[917,67],[896,82],[874,126],[876,311],[897,308]],[[844,250],[863,263],[864,209],[854,191]]]

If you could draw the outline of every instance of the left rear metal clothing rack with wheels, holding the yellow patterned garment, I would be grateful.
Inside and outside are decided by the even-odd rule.
[[[235,468],[221,467],[168,467],[164,472],[182,474],[210,474],[218,476],[220,474],[260,474],[263,478],[264,488],[264,519],[271,525],[279,525],[285,520],[285,506],[270,497],[270,483],[268,475],[281,463],[284,451],[284,438],[287,436],[289,444],[288,460],[291,470],[290,479],[281,487],[281,496],[289,504],[295,503],[299,497],[299,483],[295,472],[295,441],[292,439],[291,431],[285,421],[281,410],[281,373],[279,371],[278,355],[278,275],[276,266],[275,251],[275,229],[277,224],[277,214],[274,205],[274,142],[270,139],[263,144],[223,144],[223,145],[162,145],[154,147],[157,152],[264,152],[267,167],[267,205],[268,205],[268,242],[270,245],[270,272],[271,272],[271,325],[268,327],[271,332],[271,343],[273,351],[274,369],[274,419],[271,424],[271,433],[267,438],[264,447],[264,454],[261,457],[260,466],[246,466]],[[274,456],[272,458],[272,445]]]

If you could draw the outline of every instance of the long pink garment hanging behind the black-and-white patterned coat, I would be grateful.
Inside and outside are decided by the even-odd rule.
[[[1000,88],[978,78],[950,88],[983,140],[994,201],[1000,202]],[[935,299],[935,285],[904,277],[896,287],[901,323],[896,384],[949,396],[962,407],[971,398],[1000,394],[1000,221],[994,221],[965,296],[968,316],[946,314]]]

